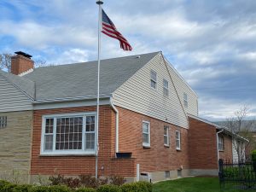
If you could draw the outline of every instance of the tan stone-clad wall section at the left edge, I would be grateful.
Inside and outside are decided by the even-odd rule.
[[[0,179],[19,176],[17,182],[28,183],[32,115],[32,111],[0,113],[7,117],[7,126],[0,129]]]

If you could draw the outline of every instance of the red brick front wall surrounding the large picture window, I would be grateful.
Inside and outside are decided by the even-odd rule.
[[[31,174],[51,175],[56,172],[65,175],[95,174],[95,156],[40,156],[42,115],[55,113],[79,113],[96,111],[95,107],[59,108],[35,110],[32,137]],[[115,160],[115,113],[109,106],[100,108],[99,130],[99,175],[120,175],[134,177],[136,160]],[[101,167],[104,166],[102,170]]]

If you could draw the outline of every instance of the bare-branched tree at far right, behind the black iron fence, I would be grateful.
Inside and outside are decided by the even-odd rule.
[[[247,120],[248,114],[249,108],[247,106],[243,106],[234,113],[234,116],[227,118],[225,122],[225,126],[235,133],[233,135],[233,147],[236,149],[239,161],[247,158],[247,149],[255,143],[252,132],[253,121]],[[242,138],[247,139],[248,142],[245,142]]]

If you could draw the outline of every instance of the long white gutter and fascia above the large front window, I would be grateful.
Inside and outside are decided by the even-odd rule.
[[[107,99],[110,98],[112,95],[102,95],[100,99]],[[44,100],[35,100],[32,104],[43,104],[43,103],[50,103],[50,102],[77,102],[83,100],[94,100],[96,96],[76,96],[76,97],[65,97],[65,98],[55,98],[55,99],[44,99]]]

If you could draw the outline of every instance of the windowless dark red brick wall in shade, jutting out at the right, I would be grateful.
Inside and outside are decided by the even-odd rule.
[[[189,117],[189,165],[191,169],[217,169],[216,128]]]

